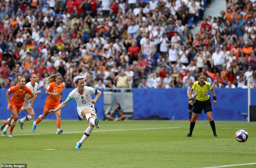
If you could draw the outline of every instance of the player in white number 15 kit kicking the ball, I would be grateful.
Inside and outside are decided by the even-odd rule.
[[[80,149],[82,143],[90,136],[94,126],[96,128],[100,128],[99,125],[99,118],[97,117],[97,113],[94,108],[94,103],[98,100],[101,95],[101,92],[95,88],[84,86],[84,77],[76,76],[74,80],[74,84],[78,88],[75,88],[70,92],[68,97],[64,102],[62,102],[56,109],[49,110],[51,114],[54,114],[58,110],[64,108],[68,102],[70,102],[73,98],[76,100],[77,103],[77,112],[80,118],[87,119],[89,122],[88,128],[85,130],[84,135],[82,136],[81,140],[76,143],[76,149]],[[92,100],[91,94],[96,94],[94,100]]]

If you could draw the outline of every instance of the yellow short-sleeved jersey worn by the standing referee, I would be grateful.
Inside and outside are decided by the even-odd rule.
[[[208,91],[212,89],[212,85],[209,82],[204,81],[204,86],[200,86],[199,81],[194,82],[192,88],[196,90],[196,99],[199,101],[206,101],[209,99]]]

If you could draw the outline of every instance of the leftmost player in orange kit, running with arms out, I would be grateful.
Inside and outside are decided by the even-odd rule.
[[[13,96],[10,99],[11,93],[13,93]],[[16,86],[12,86],[6,92],[6,99],[7,99],[7,103],[8,103],[7,110],[10,110],[12,113],[12,116],[13,116],[13,119],[11,121],[7,120],[6,123],[4,123],[5,125],[6,124],[11,125],[9,137],[12,137],[13,128],[16,124],[16,121],[18,120],[18,115],[23,106],[23,102],[25,100],[25,96],[27,93],[33,97],[31,104],[27,108],[28,111],[31,111],[32,106],[36,100],[36,95],[28,86],[26,86],[26,80],[23,76],[19,76],[18,84]]]

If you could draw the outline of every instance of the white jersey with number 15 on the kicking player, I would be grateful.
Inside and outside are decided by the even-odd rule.
[[[77,88],[75,88],[74,90],[72,90],[72,92],[68,94],[68,98],[66,100],[70,102],[70,100],[74,98],[77,103],[76,109],[86,106],[94,107],[94,104],[91,103],[92,94],[97,94],[97,90],[95,88],[84,86],[83,94],[78,93]]]

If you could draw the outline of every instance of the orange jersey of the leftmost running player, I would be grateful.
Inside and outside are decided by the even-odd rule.
[[[25,101],[26,94],[30,94],[30,96],[34,96],[34,92],[28,87],[24,86],[22,90],[18,88],[18,85],[10,87],[7,92],[9,94],[13,93],[13,96],[10,100],[16,106],[22,106],[23,102]]]

